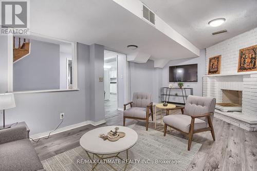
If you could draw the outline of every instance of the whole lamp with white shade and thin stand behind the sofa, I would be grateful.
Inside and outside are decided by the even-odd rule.
[[[6,126],[5,125],[5,110],[14,108],[15,105],[15,100],[14,100],[14,95],[11,93],[6,93],[6,94],[0,94],[0,110],[3,110],[3,126],[0,126],[0,129],[6,129],[10,128],[11,126]]]

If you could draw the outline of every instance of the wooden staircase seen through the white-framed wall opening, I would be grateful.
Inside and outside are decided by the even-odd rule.
[[[15,47],[15,40],[18,40],[19,45],[17,48]],[[25,56],[27,56],[30,53],[30,43],[29,39],[28,42],[26,42],[26,39],[23,39],[23,44],[21,46],[21,37],[13,37],[13,63],[21,60]]]

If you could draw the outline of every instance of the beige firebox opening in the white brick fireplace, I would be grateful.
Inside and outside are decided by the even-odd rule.
[[[242,111],[242,91],[222,90],[223,103],[217,103],[216,108],[224,112]]]

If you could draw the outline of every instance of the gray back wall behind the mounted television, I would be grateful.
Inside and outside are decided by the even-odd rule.
[[[174,65],[187,65],[198,64],[198,82],[185,83],[186,87],[192,87],[194,89],[194,95],[202,96],[203,93],[203,78],[205,74],[206,63],[206,50],[200,50],[200,56],[198,58],[181,59],[170,61],[163,68],[154,68],[154,61],[148,60],[143,64],[130,62],[130,92],[131,99],[134,92],[151,92],[153,96],[153,102],[159,102],[160,87],[169,86],[169,66]],[[177,86],[177,83],[174,86]]]

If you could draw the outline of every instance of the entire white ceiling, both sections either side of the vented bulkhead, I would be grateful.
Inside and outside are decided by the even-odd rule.
[[[257,27],[257,0],[141,0],[198,48],[206,48]],[[219,27],[208,22],[225,17]],[[227,29],[227,33],[212,35]],[[100,44],[108,50],[151,54],[150,59],[196,55],[112,0],[30,1],[30,30],[47,36]],[[127,49],[127,45],[138,49]]]

